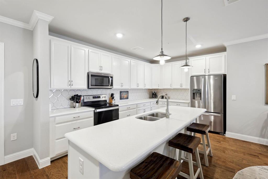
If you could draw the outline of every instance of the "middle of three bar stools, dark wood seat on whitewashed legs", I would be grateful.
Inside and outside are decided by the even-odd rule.
[[[190,175],[187,175],[183,172],[180,172],[179,175],[188,179],[196,179],[199,174],[199,177],[201,179],[204,179],[202,168],[201,168],[201,162],[199,158],[199,153],[198,153],[198,148],[197,148],[200,142],[201,142],[201,139],[199,137],[195,137],[195,136],[183,134],[183,133],[178,133],[173,139],[171,139],[168,142],[169,146],[179,149],[178,160],[179,161],[183,160],[189,163]],[[181,157],[181,151],[186,152],[186,154],[188,155],[188,159]],[[192,159],[193,153],[195,153],[196,162],[193,162],[193,159]],[[198,169],[195,174],[193,173],[193,164],[198,166]]]

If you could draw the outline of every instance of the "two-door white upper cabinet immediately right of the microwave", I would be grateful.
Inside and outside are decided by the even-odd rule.
[[[130,60],[113,56],[113,87],[130,87]]]

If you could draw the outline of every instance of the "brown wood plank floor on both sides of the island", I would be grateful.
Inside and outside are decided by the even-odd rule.
[[[198,135],[201,137],[201,135]],[[213,157],[208,156],[209,167],[205,166],[203,154],[199,154],[204,178],[232,179],[235,173],[250,166],[268,165],[268,146],[241,141],[209,133]],[[199,146],[199,150],[202,150]],[[195,156],[193,155],[195,161]],[[194,166],[195,171],[197,170]],[[184,173],[189,174],[188,163],[183,162]],[[0,166],[0,178],[68,178],[68,156],[51,161],[51,165],[39,169],[33,156]],[[178,178],[183,178],[178,176]]]

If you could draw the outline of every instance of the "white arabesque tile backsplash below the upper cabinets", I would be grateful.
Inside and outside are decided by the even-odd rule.
[[[128,99],[120,100],[120,91],[128,91]],[[87,90],[49,90],[49,103],[51,109],[70,108],[73,102],[69,100],[74,94],[79,95],[99,95],[114,93],[116,102],[146,99],[151,97],[151,92],[157,91],[157,94],[168,94],[170,99],[189,100],[189,89],[87,89]]]

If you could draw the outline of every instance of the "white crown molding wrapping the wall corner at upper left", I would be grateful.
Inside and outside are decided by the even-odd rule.
[[[7,24],[17,26],[17,27],[21,27],[21,28],[26,28],[28,30],[33,30],[38,19],[46,20],[50,23],[53,18],[54,18],[53,16],[50,16],[50,15],[44,14],[42,12],[39,12],[37,10],[34,10],[32,17],[29,21],[29,24],[24,23],[24,22],[20,22],[20,21],[14,20],[14,19],[10,19],[10,18],[4,17],[4,16],[0,16],[0,22],[7,23]]]

